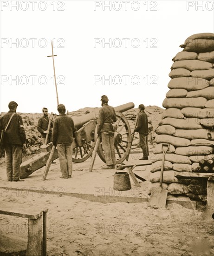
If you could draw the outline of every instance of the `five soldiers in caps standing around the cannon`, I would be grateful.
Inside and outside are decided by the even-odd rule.
[[[105,155],[106,165],[103,169],[113,169],[116,165],[114,147],[114,123],[117,121],[115,109],[108,105],[108,97],[101,97],[102,108],[98,114],[97,136],[102,139],[102,146]],[[9,111],[0,118],[0,130],[4,131],[4,146],[6,155],[6,174],[8,181],[18,182],[20,179],[20,164],[22,162],[22,148],[26,142],[26,134],[21,116],[16,113],[18,104],[11,101],[8,105]],[[65,114],[65,105],[58,105],[59,115],[55,121],[51,121],[51,128],[48,130],[48,109],[43,108],[43,116],[39,118],[37,129],[41,133],[42,142],[48,136],[47,143],[52,141],[58,149],[58,159],[61,169],[60,178],[68,179],[72,175],[72,142],[75,138],[75,127],[71,117]],[[144,112],[144,105],[139,105],[139,116],[134,132],[139,133],[140,147],[143,150],[143,158],[148,160],[148,118]]]

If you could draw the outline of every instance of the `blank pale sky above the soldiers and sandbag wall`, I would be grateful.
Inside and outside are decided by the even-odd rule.
[[[111,106],[162,107],[172,58],[192,34],[214,33],[214,1],[0,2],[0,112]]]

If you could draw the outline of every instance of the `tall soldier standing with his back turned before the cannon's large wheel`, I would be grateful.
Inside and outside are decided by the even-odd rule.
[[[115,147],[114,147],[114,130],[112,124],[117,121],[115,109],[108,105],[108,97],[101,97],[102,107],[99,111],[97,121],[97,135],[102,138],[106,166],[102,169],[113,169],[116,165]]]

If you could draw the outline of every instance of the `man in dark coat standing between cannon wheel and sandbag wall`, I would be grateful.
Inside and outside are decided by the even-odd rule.
[[[148,160],[148,143],[147,143],[147,136],[149,134],[148,128],[148,117],[144,111],[145,107],[143,104],[139,105],[140,114],[138,116],[137,126],[135,128],[135,132],[139,133],[139,140],[140,140],[140,148],[143,150],[143,157],[139,160]]]

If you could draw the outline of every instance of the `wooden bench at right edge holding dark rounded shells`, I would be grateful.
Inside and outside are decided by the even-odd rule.
[[[208,211],[214,213],[214,173],[191,173],[191,172],[181,172],[175,175],[177,178],[186,179],[208,179],[207,184],[207,209]]]

